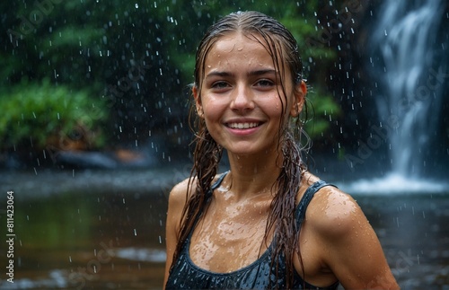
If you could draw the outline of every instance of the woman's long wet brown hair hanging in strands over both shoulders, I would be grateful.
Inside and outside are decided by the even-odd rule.
[[[231,13],[207,30],[198,46],[194,72],[195,83],[192,84],[197,88],[198,98],[201,98],[201,87],[206,69],[205,63],[210,49],[214,47],[217,40],[235,32],[242,33],[251,40],[259,41],[269,52],[273,59],[273,65],[278,72],[277,81],[280,83],[280,90],[282,90],[282,92],[278,92],[282,101],[282,116],[286,116],[288,114],[286,82],[292,82],[294,90],[298,89],[298,85],[295,84],[303,81],[303,64],[301,57],[299,57],[297,42],[292,33],[280,22],[263,13],[253,11]],[[286,70],[290,71],[291,80],[285,79]],[[282,96],[285,100],[282,100]],[[306,110],[305,104],[304,110]],[[304,113],[306,115],[306,111],[302,115]],[[216,177],[218,163],[223,154],[223,148],[209,134],[205,120],[198,118],[194,104],[192,104],[190,110],[190,120],[192,119],[194,119],[194,122],[190,123],[193,123],[192,129],[195,132],[194,143],[196,144],[193,155],[194,164],[190,172],[188,199],[182,212],[178,244],[173,260],[178,258],[180,247],[195,226],[202,210],[207,210],[207,192],[211,190],[211,184]],[[275,242],[276,246],[273,250],[273,258],[282,254],[286,255],[287,288],[293,285],[295,253],[300,257],[301,265],[303,264],[298,244],[300,229],[296,227],[295,223],[295,198],[305,171],[302,160],[304,147],[301,147],[301,136],[304,136],[302,134],[303,124],[300,118],[290,118],[287,124],[281,122],[279,125],[278,144],[280,146],[279,151],[282,153],[282,167],[272,188],[276,192],[270,205],[264,237],[264,241],[267,243],[269,233],[274,231],[276,234],[272,242]],[[271,260],[277,261],[277,259]],[[275,265],[275,268],[277,269],[277,265]]]

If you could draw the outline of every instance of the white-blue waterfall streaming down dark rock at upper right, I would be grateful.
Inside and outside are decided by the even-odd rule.
[[[443,1],[384,0],[371,34],[371,66],[383,90],[374,98],[382,126],[389,127],[392,173],[403,178],[418,177],[426,166],[423,151],[441,108],[446,67],[436,59],[435,43]]]

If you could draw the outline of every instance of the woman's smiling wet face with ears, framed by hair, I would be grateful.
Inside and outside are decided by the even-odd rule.
[[[216,143],[237,155],[276,151],[286,119],[302,108],[304,83],[294,85],[290,72],[277,71],[258,39],[240,32],[216,40],[204,67],[201,87],[193,93],[199,117]]]

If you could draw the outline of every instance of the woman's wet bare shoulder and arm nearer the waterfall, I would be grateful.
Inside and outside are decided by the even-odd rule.
[[[323,265],[340,284],[345,289],[398,289],[382,246],[357,202],[332,187],[321,189],[315,198],[306,217],[318,235]]]

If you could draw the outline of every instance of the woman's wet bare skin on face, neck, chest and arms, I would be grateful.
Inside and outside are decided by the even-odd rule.
[[[267,50],[240,33],[217,40],[205,65],[203,84],[193,90],[197,110],[211,136],[227,150],[231,172],[213,192],[193,232],[189,254],[199,268],[227,273],[258,259],[272,239],[272,233],[268,241],[263,237],[272,185],[280,171],[277,134],[280,123],[301,110],[306,88],[286,81],[287,95],[279,96],[276,75],[291,80],[289,72],[277,72]],[[304,173],[297,202],[315,180]],[[186,190],[187,181],[181,182],[169,200],[166,273]],[[308,283],[330,286],[339,280],[345,288],[397,287],[371,225],[354,199],[339,189],[326,187],[315,194],[301,231]],[[303,276],[297,257],[295,269]]]

